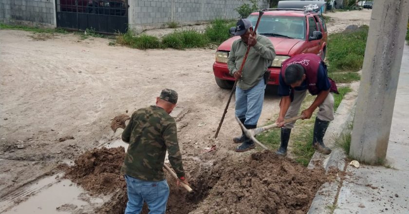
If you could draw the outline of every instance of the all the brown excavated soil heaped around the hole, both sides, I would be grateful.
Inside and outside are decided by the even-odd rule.
[[[119,172],[124,155],[123,147],[94,149],[67,171],[67,178],[91,193],[114,195],[98,213],[125,210],[126,183]],[[198,176],[189,178],[194,190],[189,194],[166,173],[170,188],[167,214],[306,213],[316,191],[327,181],[324,171],[309,170],[270,151],[253,153],[244,160],[225,157],[190,174]],[[146,205],[142,213],[148,213]]]

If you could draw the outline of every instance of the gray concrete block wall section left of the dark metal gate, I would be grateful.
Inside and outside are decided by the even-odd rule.
[[[0,20],[25,25],[56,27],[55,0],[0,0]]]

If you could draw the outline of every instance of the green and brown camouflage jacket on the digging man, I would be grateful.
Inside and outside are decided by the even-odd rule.
[[[135,111],[122,132],[122,140],[129,143],[122,173],[147,181],[165,179],[163,164],[167,150],[178,178],[185,176],[176,122],[163,108],[150,106]]]

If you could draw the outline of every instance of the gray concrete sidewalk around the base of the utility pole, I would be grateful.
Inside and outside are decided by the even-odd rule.
[[[405,45],[385,166],[348,165],[334,214],[409,213],[409,46]]]

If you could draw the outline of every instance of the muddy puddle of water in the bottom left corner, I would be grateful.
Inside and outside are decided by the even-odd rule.
[[[19,188],[0,202],[1,214],[70,214],[74,210],[90,210],[104,199],[92,197],[68,179],[56,179],[63,173],[46,177]],[[26,200],[25,200],[26,199]],[[23,201],[19,204],[19,201]],[[57,210],[57,207],[60,207]]]

